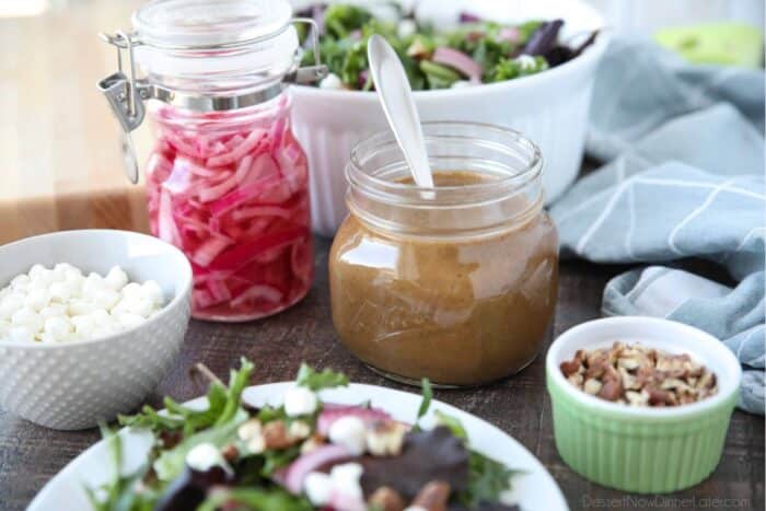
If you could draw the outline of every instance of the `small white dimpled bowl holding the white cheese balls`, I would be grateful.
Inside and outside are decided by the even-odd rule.
[[[127,231],[62,231],[0,246],[0,287],[36,263],[70,263],[156,280],[166,305],[143,324],[93,340],[0,341],[0,407],[54,429],[90,428],[140,405],[176,358],[188,326],[192,266],[174,246]]]

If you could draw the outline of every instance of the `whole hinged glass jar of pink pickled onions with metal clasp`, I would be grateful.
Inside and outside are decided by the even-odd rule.
[[[98,86],[125,131],[134,183],[129,133],[144,101],[154,120],[150,227],[192,262],[195,317],[267,316],[312,284],[309,169],[287,85],[326,70],[315,27],[315,66],[299,67],[295,22],[313,23],[293,19],[286,0],[154,0],[134,13],[134,32],[102,36],[119,70]]]

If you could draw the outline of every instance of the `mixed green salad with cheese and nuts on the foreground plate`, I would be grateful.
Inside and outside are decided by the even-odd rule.
[[[282,404],[251,406],[242,392],[253,370],[243,359],[228,386],[211,383],[207,408],[166,397],[166,411],[146,406],[120,417],[124,426],[151,431],[153,448],[136,473],[86,488],[93,509],[519,509],[502,503],[514,471],[472,450],[457,419],[434,410],[437,426],[420,426],[431,402],[428,381],[413,423],[405,423],[374,403],[324,402],[323,390],[346,386],[348,379],[305,364]],[[119,437],[105,434],[121,466]]]

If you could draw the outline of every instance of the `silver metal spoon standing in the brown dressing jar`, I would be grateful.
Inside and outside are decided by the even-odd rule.
[[[367,57],[385,118],[388,119],[394,137],[404,152],[415,184],[422,188],[433,188],[433,175],[428,164],[420,116],[415,107],[413,91],[402,61],[394,48],[380,35],[370,37]]]

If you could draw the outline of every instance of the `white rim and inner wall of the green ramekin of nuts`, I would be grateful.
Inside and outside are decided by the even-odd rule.
[[[615,340],[640,344],[670,353],[688,353],[694,360],[712,371],[718,381],[718,393],[690,405],[651,408],[629,407],[585,394],[564,378],[559,365],[571,360],[578,349],[595,349],[612,346]],[[730,400],[739,392],[742,368],[734,353],[723,342],[698,328],[670,320],[642,316],[619,316],[595,320],[578,325],[561,334],[545,360],[546,372],[571,398],[599,410],[607,410],[626,417],[662,418],[704,414]]]

